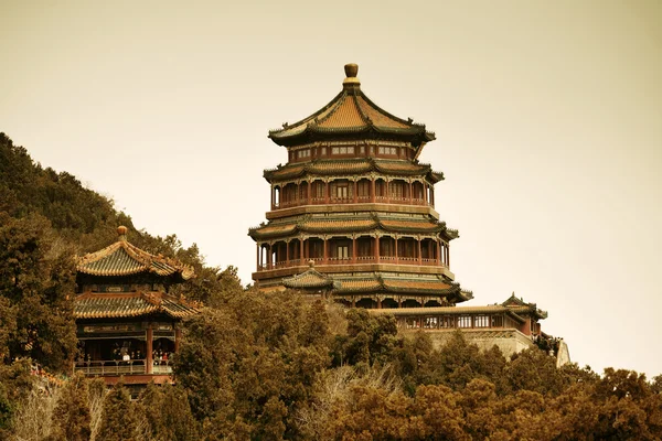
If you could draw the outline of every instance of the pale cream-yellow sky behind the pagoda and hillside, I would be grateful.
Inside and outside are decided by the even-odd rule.
[[[662,373],[662,2],[0,0],[0,131],[244,283],[268,130],[357,63],[437,135],[465,304],[514,291],[580,366]]]

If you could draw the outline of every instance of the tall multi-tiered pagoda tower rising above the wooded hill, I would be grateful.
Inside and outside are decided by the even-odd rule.
[[[287,149],[266,170],[267,223],[250,228],[263,290],[293,288],[369,309],[449,306],[471,299],[450,271],[450,241],[435,209],[440,172],[418,157],[435,135],[375,105],[359,67],[345,65],[328,105],[269,138]]]

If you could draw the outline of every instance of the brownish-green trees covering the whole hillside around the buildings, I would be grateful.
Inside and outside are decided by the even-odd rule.
[[[85,207],[82,209],[82,207]],[[74,257],[116,239],[175,257],[204,302],[175,386],[130,400],[70,376]],[[662,438],[662,377],[599,376],[528,349],[506,361],[460,333],[436,349],[395,320],[242,287],[195,245],[136,230],[113,201],[35,164],[0,135],[0,439],[624,440]],[[32,375],[39,363],[49,375]]]

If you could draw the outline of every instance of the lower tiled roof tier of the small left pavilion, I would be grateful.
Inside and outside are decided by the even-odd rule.
[[[158,313],[181,319],[199,312],[194,303],[161,292],[85,293],[74,300],[74,316],[76,319],[138,318]]]

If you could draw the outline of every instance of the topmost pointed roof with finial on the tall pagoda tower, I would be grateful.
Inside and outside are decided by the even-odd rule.
[[[338,138],[380,138],[406,141],[416,148],[435,139],[435,133],[427,131],[425,125],[398,118],[367,98],[361,90],[357,72],[355,64],[345,65],[346,78],[340,94],[309,117],[269,131],[269,138],[279,146]]]

